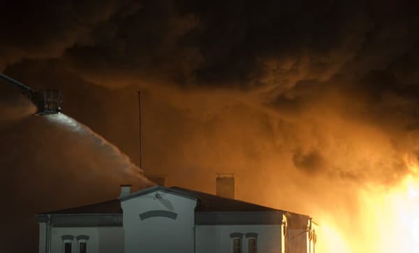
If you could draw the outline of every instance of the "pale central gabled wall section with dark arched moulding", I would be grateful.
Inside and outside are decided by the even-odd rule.
[[[124,200],[121,206],[126,253],[193,252],[196,199],[154,191]]]

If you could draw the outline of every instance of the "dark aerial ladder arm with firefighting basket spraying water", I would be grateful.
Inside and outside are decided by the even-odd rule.
[[[0,80],[15,85],[27,99],[36,106],[36,115],[50,115],[61,112],[62,94],[58,89],[34,90],[13,78],[0,73]]]

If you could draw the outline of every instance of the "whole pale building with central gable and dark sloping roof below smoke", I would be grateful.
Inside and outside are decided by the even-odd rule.
[[[315,252],[307,215],[178,187],[126,188],[112,201],[35,215],[39,252]]]

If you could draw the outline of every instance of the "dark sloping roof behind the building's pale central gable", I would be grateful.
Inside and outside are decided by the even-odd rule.
[[[155,186],[136,191],[123,198],[116,198],[111,201],[101,203],[94,203],[91,205],[83,205],[76,208],[67,208],[63,210],[55,210],[52,212],[43,212],[38,215],[81,215],[81,214],[122,214],[121,201],[129,198],[135,198],[148,194],[152,191],[166,191],[172,194],[185,196],[189,198],[196,198],[198,204],[196,205],[196,212],[285,212],[274,208],[268,208],[263,205],[256,205],[253,203],[238,201],[231,198],[223,198],[213,194],[207,194],[201,191],[193,191],[191,189],[184,189],[181,187],[161,187]],[[289,212],[288,212],[289,213]]]

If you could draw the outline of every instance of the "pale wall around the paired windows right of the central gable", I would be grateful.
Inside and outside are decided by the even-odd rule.
[[[198,253],[233,252],[233,238],[242,234],[242,252],[248,252],[248,239],[257,234],[258,252],[282,252],[281,225],[205,225],[196,229]],[[247,237],[248,236],[248,237]]]

